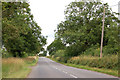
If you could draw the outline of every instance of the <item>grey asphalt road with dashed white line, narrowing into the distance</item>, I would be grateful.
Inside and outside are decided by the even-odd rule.
[[[48,58],[40,57],[28,78],[116,78],[111,75],[78,69],[56,63]]]

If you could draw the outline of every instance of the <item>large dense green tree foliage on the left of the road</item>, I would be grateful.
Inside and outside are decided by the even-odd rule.
[[[24,57],[42,51],[46,38],[33,20],[29,4],[25,2],[2,3],[3,45],[14,57]]]

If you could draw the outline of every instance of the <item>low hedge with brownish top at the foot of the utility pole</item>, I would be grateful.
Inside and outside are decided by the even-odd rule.
[[[78,57],[72,57],[68,63],[85,65],[89,67],[106,68],[106,69],[118,69],[118,56],[108,55],[103,58],[81,55]]]

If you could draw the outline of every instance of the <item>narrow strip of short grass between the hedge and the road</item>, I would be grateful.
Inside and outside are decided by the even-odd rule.
[[[86,70],[91,70],[91,71],[96,71],[96,72],[101,72],[101,73],[105,73],[105,74],[109,74],[112,76],[116,76],[118,77],[118,70],[112,70],[112,69],[104,69],[104,68],[95,68],[95,67],[89,67],[89,66],[83,66],[83,65],[76,65],[76,64],[72,64],[72,63],[64,63],[64,62],[60,62],[54,58],[51,57],[47,57],[50,58],[51,60],[64,64],[66,66],[71,66],[71,67],[76,67],[76,68],[80,68],[80,69],[86,69]]]

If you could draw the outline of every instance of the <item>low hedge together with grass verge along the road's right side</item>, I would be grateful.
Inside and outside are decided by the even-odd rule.
[[[72,66],[80,69],[87,69],[91,71],[97,71],[113,76],[118,76],[118,56],[104,56],[102,59],[93,56],[77,56],[69,58],[66,62],[66,58],[49,56],[48,58],[64,64],[66,66]]]

